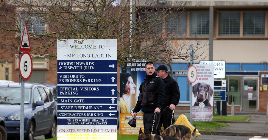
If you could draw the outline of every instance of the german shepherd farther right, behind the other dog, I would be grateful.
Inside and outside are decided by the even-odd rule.
[[[171,125],[163,130],[161,128],[161,135],[172,136],[180,140],[195,140],[196,128],[194,128],[193,134],[191,135],[191,130],[184,125]]]

